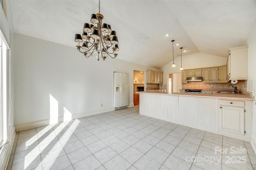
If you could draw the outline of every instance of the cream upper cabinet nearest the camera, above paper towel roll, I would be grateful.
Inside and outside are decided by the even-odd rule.
[[[229,49],[230,80],[248,80],[248,46]]]

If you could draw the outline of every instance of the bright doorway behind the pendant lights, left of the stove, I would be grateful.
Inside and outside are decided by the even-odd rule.
[[[167,74],[166,80],[167,92],[180,92],[182,89],[181,72]]]

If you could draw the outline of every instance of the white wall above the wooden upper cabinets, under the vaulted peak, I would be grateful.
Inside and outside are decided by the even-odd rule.
[[[228,49],[227,49],[228,57]],[[176,67],[172,67],[173,61],[166,64],[160,70],[164,72],[164,80],[160,88],[166,88],[166,74],[168,73],[177,73],[181,72],[181,60],[180,57],[174,59]],[[194,68],[206,68],[206,67],[215,67],[215,66],[224,66],[227,64],[226,57],[220,57],[216,55],[210,55],[205,53],[195,53],[191,55],[182,55],[182,67],[184,70],[194,69]]]

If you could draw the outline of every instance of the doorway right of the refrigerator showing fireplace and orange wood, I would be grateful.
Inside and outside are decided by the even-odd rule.
[[[134,103],[134,106],[140,104],[140,95],[138,93],[136,93],[139,91],[144,91],[144,72],[133,70],[133,103]]]

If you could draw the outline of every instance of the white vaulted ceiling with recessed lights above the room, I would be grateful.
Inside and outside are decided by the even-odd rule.
[[[74,47],[76,33],[98,13],[98,0],[10,0],[14,32]],[[118,59],[161,68],[182,55],[227,57],[247,45],[255,0],[101,0],[103,23],[119,41]],[[169,37],[165,37],[170,33]],[[77,52],[79,53],[79,52]],[[82,56],[82,54],[81,54]]]

